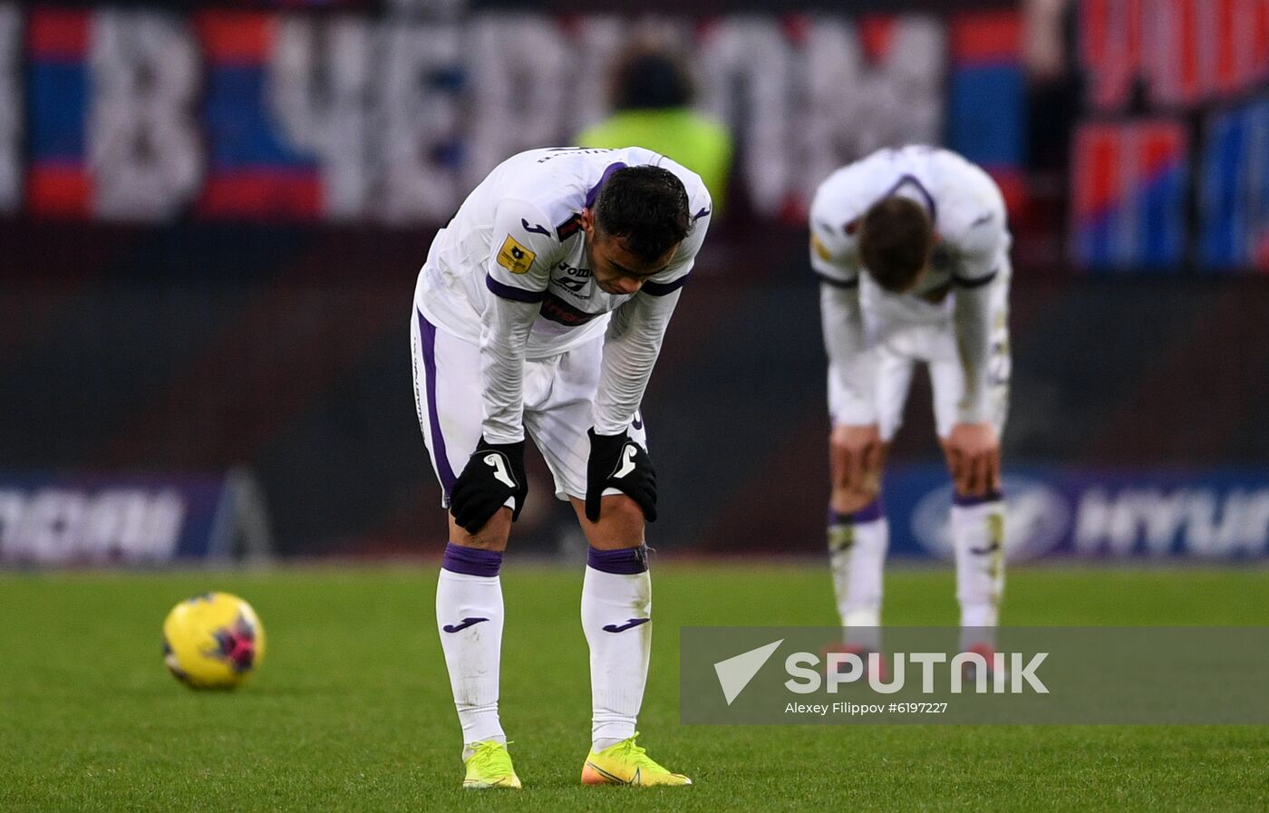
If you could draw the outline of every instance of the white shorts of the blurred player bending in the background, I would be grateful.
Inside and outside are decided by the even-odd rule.
[[[996,285],[991,302],[991,355],[987,359],[990,420],[1004,431],[1009,412],[1009,287]],[[884,339],[872,349],[877,354],[877,420],[881,438],[890,441],[904,422],[904,405],[912,383],[912,368],[925,361],[934,391],[934,422],[939,438],[947,438],[957,422],[957,405],[964,394],[964,374],[957,350],[956,323],[950,316],[938,322],[886,323]],[[844,401],[836,369],[829,367],[829,415],[834,425]]]

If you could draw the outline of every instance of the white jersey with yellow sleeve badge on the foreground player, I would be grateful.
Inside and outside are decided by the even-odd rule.
[[[610,294],[591,275],[581,211],[594,205],[610,172],[646,165],[683,181],[692,231],[638,293]],[[523,438],[524,360],[558,356],[605,330],[612,346],[595,398],[595,430],[617,434],[629,424],[711,211],[695,172],[641,147],[530,150],[496,166],[472,190],[437,233],[415,304],[440,330],[481,348],[490,443]],[[619,308],[610,326],[609,315]]]

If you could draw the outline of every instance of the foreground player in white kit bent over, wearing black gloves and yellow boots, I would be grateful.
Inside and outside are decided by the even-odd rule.
[[[414,392],[450,511],[437,627],[464,788],[520,786],[497,715],[499,568],[524,507],[525,434],[590,543],[581,781],[692,784],[634,745],[652,619],[643,523],[656,519],[638,407],[709,211],[700,179],[648,150],[534,150],[495,167],[428,252],[411,320]]]

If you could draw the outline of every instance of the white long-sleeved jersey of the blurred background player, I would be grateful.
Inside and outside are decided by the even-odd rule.
[[[858,250],[859,221],[890,195],[924,205],[937,236],[930,270],[904,294],[882,289],[862,273],[867,269]],[[881,150],[820,184],[810,219],[811,268],[825,283],[821,309],[834,421],[878,420],[878,361],[904,344],[891,339],[923,326],[942,331],[947,353],[963,373],[954,412],[940,417],[940,430],[953,420],[995,420],[1001,410],[991,391],[1008,377],[1008,364],[992,369],[992,355],[1008,353],[1003,308],[1011,242],[995,181],[948,150]],[[901,407],[900,400],[895,408]]]

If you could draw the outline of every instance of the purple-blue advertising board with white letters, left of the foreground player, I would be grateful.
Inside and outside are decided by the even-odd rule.
[[[0,567],[227,562],[266,554],[250,476],[0,472]]]

